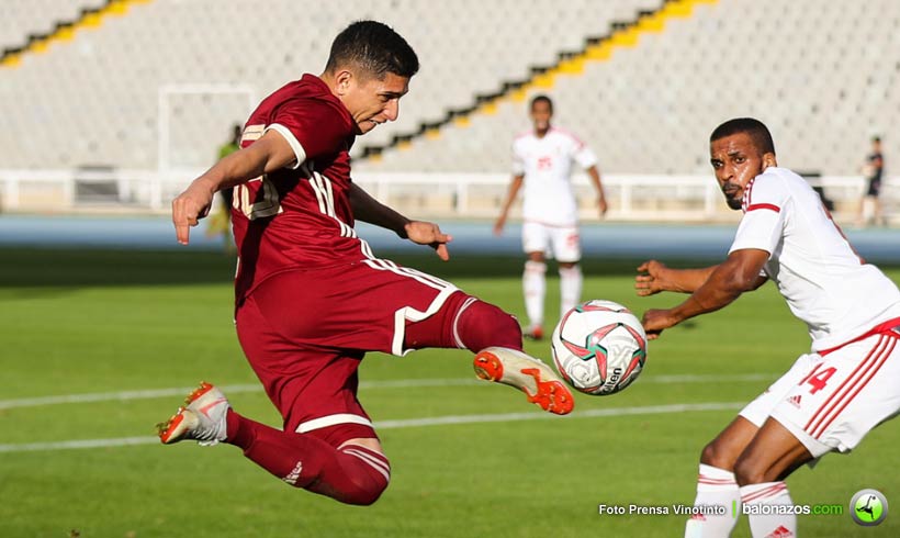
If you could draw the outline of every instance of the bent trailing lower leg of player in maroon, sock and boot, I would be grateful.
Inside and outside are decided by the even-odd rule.
[[[379,450],[350,442],[335,447],[312,434],[257,423],[235,413],[222,391],[206,382],[157,428],[166,445],[193,439],[205,446],[240,447],[248,459],[283,482],[341,503],[374,503],[391,478],[387,458]]]

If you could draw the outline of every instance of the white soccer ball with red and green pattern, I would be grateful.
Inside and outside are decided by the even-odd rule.
[[[565,313],[551,338],[560,376],[585,394],[615,394],[646,360],[646,334],[627,307],[595,299]]]

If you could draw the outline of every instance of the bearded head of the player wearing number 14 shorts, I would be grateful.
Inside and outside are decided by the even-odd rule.
[[[769,166],[778,166],[772,134],[760,120],[738,117],[709,136],[709,161],[728,206],[740,210],[744,189]]]

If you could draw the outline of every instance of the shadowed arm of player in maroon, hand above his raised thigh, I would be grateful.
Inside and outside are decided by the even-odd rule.
[[[350,184],[350,206],[353,210],[353,217],[357,220],[391,229],[400,237],[409,239],[413,243],[429,245],[438,253],[440,259],[445,261],[450,259],[447,244],[453,238],[442,233],[437,224],[425,221],[410,221],[369,195],[356,183]]]

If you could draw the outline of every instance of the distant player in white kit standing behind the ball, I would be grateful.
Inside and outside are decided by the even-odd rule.
[[[531,99],[530,116],[533,130],[519,135],[513,143],[513,181],[494,225],[494,234],[503,233],[509,208],[524,187],[522,249],[528,259],[522,290],[529,320],[525,336],[541,339],[547,253],[552,251],[560,267],[560,314],[575,306],[582,294],[578,208],[571,181],[573,162],[587,171],[597,190],[600,216],[606,214],[607,204],[597,171],[597,157],[576,136],[550,125],[553,116],[550,98],[536,96]]]

